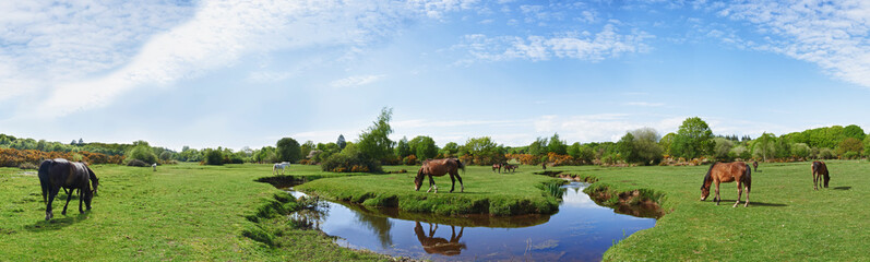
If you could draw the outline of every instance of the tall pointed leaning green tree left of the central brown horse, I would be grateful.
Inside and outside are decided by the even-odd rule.
[[[390,140],[390,134],[393,133],[393,128],[390,127],[392,117],[393,109],[384,107],[378,120],[359,134],[356,146],[362,155],[372,159],[386,159],[393,156],[394,142]]]

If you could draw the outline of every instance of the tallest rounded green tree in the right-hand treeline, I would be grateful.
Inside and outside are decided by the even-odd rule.
[[[680,124],[677,135],[670,145],[675,156],[688,159],[707,155],[713,152],[713,131],[699,117],[687,118]]]

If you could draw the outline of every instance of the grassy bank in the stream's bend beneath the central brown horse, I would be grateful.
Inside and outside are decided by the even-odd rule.
[[[559,206],[556,196],[547,192],[562,180],[533,175],[524,171],[523,167],[510,174],[492,172],[489,167],[466,167],[466,171],[460,175],[465,192],[460,192],[457,181],[453,193],[449,193],[449,176],[436,177],[439,192],[427,193],[428,179],[420,191],[414,191],[417,167],[390,167],[388,171],[391,169],[407,169],[409,172],[319,179],[296,189],[367,206],[395,206],[408,212],[442,215],[551,214]]]

